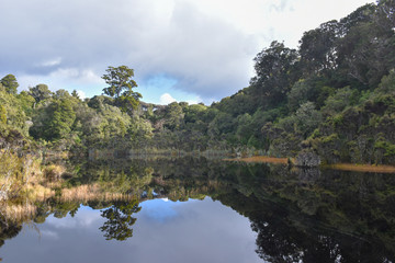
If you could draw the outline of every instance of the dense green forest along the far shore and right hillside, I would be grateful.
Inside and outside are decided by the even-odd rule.
[[[395,1],[365,4],[305,32],[297,49],[272,42],[249,87],[213,103],[139,103],[133,69],[109,67],[104,94],[80,100],[45,84],[0,85],[2,148],[260,150],[324,162],[395,163]]]

